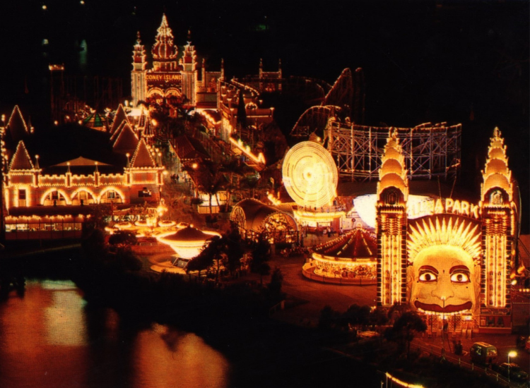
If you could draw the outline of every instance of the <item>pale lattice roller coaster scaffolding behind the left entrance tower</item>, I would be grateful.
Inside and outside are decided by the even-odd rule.
[[[461,163],[461,124],[424,123],[414,128],[359,126],[330,119],[324,144],[344,181],[378,179],[381,157],[389,132],[397,132],[408,177],[444,180],[454,178]]]

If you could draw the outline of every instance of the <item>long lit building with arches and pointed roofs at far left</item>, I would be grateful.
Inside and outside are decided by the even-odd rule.
[[[120,109],[110,131],[34,129],[15,107],[1,133],[6,239],[78,238],[92,205],[158,202],[164,167],[145,129]]]

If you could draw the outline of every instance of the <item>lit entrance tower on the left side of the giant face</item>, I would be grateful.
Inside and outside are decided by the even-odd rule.
[[[377,183],[377,305],[383,307],[406,302],[408,182],[396,135],[384,147]]]

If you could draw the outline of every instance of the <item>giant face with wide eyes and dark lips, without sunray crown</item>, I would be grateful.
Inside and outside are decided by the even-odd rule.
[[[473,311],[478,307],[480,273],[462,248],[425,248],[409,267],[411,305],[427,313]]]

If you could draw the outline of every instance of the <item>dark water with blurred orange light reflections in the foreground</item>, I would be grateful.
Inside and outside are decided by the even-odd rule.
[[[125,322],[67,280],[0,304],[0,387],[228,387],[225,357],[192,333]]]

